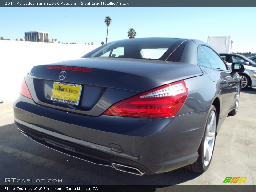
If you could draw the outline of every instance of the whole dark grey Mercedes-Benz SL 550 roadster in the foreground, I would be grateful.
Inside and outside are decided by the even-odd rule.
[[[120,171],[204,172],[221,124],[237,112],[243,70],[198,40],[115,41],[33,67],[15,123],[46,147]]]

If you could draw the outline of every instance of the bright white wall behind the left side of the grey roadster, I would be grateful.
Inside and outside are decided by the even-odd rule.
[[[78,59],[99,45],[0,40],[0,101],[12,102],[35,65]]]

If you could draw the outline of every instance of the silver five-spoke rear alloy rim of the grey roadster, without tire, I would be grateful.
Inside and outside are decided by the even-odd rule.
[[[204,166],[208,166],[213,153],[215,134],[216,134],[216,114],[214,111],[210,114],[204,138]]]

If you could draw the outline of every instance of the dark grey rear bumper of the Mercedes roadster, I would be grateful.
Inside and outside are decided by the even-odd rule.
[[[14,103],[15,123],[32,140],[92,163],[124,164],[146,174],[195,162],[207,115],[90,117],[40,106],[23,96]]]

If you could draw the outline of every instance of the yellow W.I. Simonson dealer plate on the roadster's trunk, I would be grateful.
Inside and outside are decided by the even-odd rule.
[[[52,100],[71,105],[78,105],[82,85],[54,82],[52,88]]]

